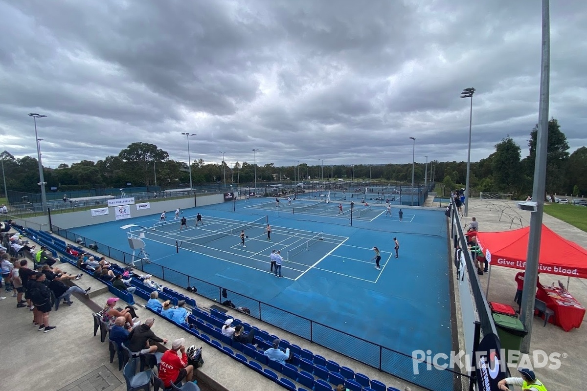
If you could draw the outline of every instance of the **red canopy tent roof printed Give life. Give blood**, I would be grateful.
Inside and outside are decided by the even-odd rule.
[[[479,232],[477,242],[492,265],[524,270],[530,227]],[[567,277],[587,278],[587,250],[542,225],[538,271]]]

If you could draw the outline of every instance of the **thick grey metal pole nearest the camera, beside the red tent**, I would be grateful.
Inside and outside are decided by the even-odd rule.
[[[528,334],[522,338],[522,353],[529,353],[534,321],[534,299],[538,277],[538,259],[542,234],[542,213],[546,185],[546,151],[548,149],[548,98],[550,87],[550,11],[548,0],[542,0],[542,62],[540,70],[540,102],[538,107],[538,132],[536,135],[536,162],[534,164],[534,188],[532,201],[537,211],[530,216],[528,256],[522,289],[520,320]]]

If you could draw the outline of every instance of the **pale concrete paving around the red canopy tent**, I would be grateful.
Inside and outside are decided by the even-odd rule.
[[[516,208],[516,202],[510,200],[470,200],[469,217],[463,217],[463,226],[475,217],[479,222],[480,232],[498,232],[510,229],[518,229],[529,226],[530,212]],[[544,214],[544,225],[568,240],[587,248],[587,233],[562,222],[555,217]],[[514,281],[518,270],[495,266],[491,268],[491,279],[488,291],[488,301],[497,301],[518,308],[514,302],[517,284]],[[484,290],[487,289],[488,273],[478,276]],[[543,285],[558,286],[561,280],[566,287],[567,277],[553,274],[540,273],[540,282]],[[581,278],[571,278],[569,292],[583,305],[587,305],[587,282]],[[561,366],[558,369],[535,368],[537,378],[540,379],[549,390],[579,390],[585,389],[587,384],[587,326],[583,319],[581,328],[565,332],[562,328],[552,324],[543,327],[544,320],[534,318],[531,337],[531,356],[537,351],[544,351],[547,355],[558,352],[561,354]],[[517,375],[517,370],[512,368],[512,375]]]

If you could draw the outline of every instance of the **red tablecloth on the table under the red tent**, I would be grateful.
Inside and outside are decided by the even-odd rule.
[[[579,304],[568,291],[542,285],[542,289],[538,288],[536,297],[544,301],[546,307],[554,311],[554,322],[552,317],[549,322],[560,326],[564,331],[581,327],[585,316],[585,307]]]

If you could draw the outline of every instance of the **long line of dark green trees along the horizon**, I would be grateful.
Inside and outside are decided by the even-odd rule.
[[[569,155],[566,137],[555,118],[549,121],[546,191],[548,193],[587,192],[587,148],[581,147]],[[495,145],[489,157],[471,163],[471,191],[512,193],[515,198],[524,198],[532,193],[534,161],[536,155],[537,127],[530,132],[529,155],[521,159],[521,148],[505,137]],[[39,192],[37,159],[25,156],[16,159],[8,151],[0,154],[9,190]],[[268,163],[257,165],[257,181],[286,181],[301,178],[301,181],[318,178],[355,178],[357,180],[384,180],[411,183],[410,164],[384,165],[330,165],[318,166],[305,163],[299,166],[275,166]],[[426,165],[417,163],[414,181],[424,183]],[[299,171],[298,171],[299,170]],[[427,165],[427,178],[444,183],[444,189],[464,187],[467,174],[466,162],[431,161]],[[195,159],[191,163],[194,186],[205,183],[222,183],[224,175],[229,183],[251,183],[255,178],[254,164],[236,162],[227,164],[205,163]],[[111,155],[93,162],[82,160],[71,166],[60,164],[57,168],[43,168],[47,189],[72,191],[92,188],[123,188],[131,186],[153,186],[157,182],[163,188],[189,186],[190,174],[186,162],[170,159],[168,152],[157,145],[133,142],[118,155]],[[4,189],[2,189],[4,191]]]

